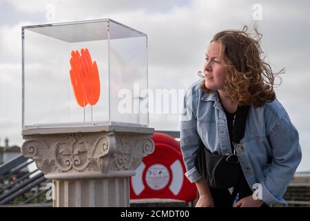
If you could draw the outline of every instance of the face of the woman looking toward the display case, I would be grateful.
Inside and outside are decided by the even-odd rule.
[[[205,86],[209,89],[221,90],[226,79],[225,63],[220,57],[220,43],[212,41],[205,57],[203,66]]]

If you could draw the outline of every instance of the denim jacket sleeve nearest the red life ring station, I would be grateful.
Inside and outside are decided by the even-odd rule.
[[[189,182],[196,182],[200,179],[200,174],[194,166],[200,140],[197,133],[196,113],[193,111],[195,95],[195,93],[192,93],[192,89],[187,90],[183,103],[183,108],[185,109],[180,119],[180,148],[187,170],[185,175]]]

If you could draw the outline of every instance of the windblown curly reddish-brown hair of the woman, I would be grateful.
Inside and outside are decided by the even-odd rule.
[[[261,58],[262,35],[254,28],[255,39],[247,30],[247,26],[242,30],[223,30],[214,35],[211,42],[217,41],[221,44],[220,54],[227,70],[223,86],[226,95],[240,106],[253,104],[258,107],[276,98],[273,90],[274,79],[276,75],[285,73],[285,69],[282,68],[278,73],[272,72],[271,66]],[[203,77],[201,72],[198,74]],[[204,92],[211,92],[211,89],[205,86],[205,79],[200,88]]]

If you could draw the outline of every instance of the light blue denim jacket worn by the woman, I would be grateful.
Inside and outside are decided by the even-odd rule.
[[[181,115],[180,146],[190,182],[200,179],[194,159],[201,139],[213,153],[231,153],[226,116],[216,90],[203,93],[196,81],[184,97]],[[199,139],[200,138],[200,139]],[[274,99],[263,106],[250,106],[245,135],[236,145],[240,166],[249,186],[269,206],[287,202],[282,199],[300,163],[302,153],[298,131],[285,108]],[[259,196],[260,194],[260,196]]]

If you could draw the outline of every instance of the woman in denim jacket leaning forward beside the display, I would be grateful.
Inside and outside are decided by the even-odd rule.
[[[298,131],[276,99],[275,74],[260,57],[261,35],[256,34],[258,40],[247,33],[247,26],[216,34],[206,53],[204,78],[185,96],[185,115],[191,117],[181,121],[180,144],[185,175],[198,189],[196,206],[233,206],[237,194],[234,206],[287,206],[282,196],[301,160]],[[246,106],[244,135],[233,145],[234,117],[238,108]],[[236,151],[238,185],[209,186],[195,166],[200,141],[213,154]],[[258,198],[252,195],[255,186]]]

